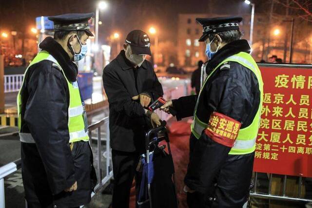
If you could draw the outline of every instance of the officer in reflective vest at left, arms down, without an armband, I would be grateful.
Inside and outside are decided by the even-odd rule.
[[[97,182],[78,68],[93,13],[49,17],[54,38],[25,71],[18,94],[22,179],[29,208],[73,208],[91,200]]]

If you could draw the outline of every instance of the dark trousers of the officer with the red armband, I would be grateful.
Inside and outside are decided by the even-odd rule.
[[[242,208],[249,197],[253,165],[254,152],[244,156],[232,155],[216,175],[208,193],[187,193],[188,207]]]

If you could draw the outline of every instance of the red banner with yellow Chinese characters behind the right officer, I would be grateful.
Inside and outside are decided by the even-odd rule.
[[[312,69],[259,68],[264,96],[254,171],[312,177]]]

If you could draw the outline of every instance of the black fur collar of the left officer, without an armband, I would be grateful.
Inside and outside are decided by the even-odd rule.
[[[62,67],[65,76],[71,82],[75,82],[78,75],[77,65],[70,59],[63,47],[53,38],[47,37],[40,44],[39,48],[51,54]]]

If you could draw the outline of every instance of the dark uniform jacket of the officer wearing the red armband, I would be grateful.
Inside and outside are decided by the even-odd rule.
[[[236,40],[222,47],[208,62],[206,73],[209,75],[222,60],[239,52],[250,52],[246,40]],[[221,65],[212,75],[210,84],[204,85],[200,95],[203,96],[200,99],[202,103],[198,106],[206,108],[208,117],[213,112],[222,113],[241,122],[241,128],[244,128],[252,123],[260,103],[258,81],[250,69],[239,63],[230,61],[226,64],[230,66],[220,69]],[[178,120],[193,115],[196,100],[197,95],[173,100]],[[212,190],[216,178],[225,174],[222,188],[237,188],[247,194],[250,180],[246,178],[250,178],[252,174],[254,153],[229,155],[230,150],[230,147],[213,141],[205,132],[202,132],[200,139],[191,134],[190,163],[185,184],[191,189],[207,193]],[[246,166],[243,165],[244,169],[241,169],[242,163],[246,163]],[[236,178],[235,181],[231,181],[231,177]]]

